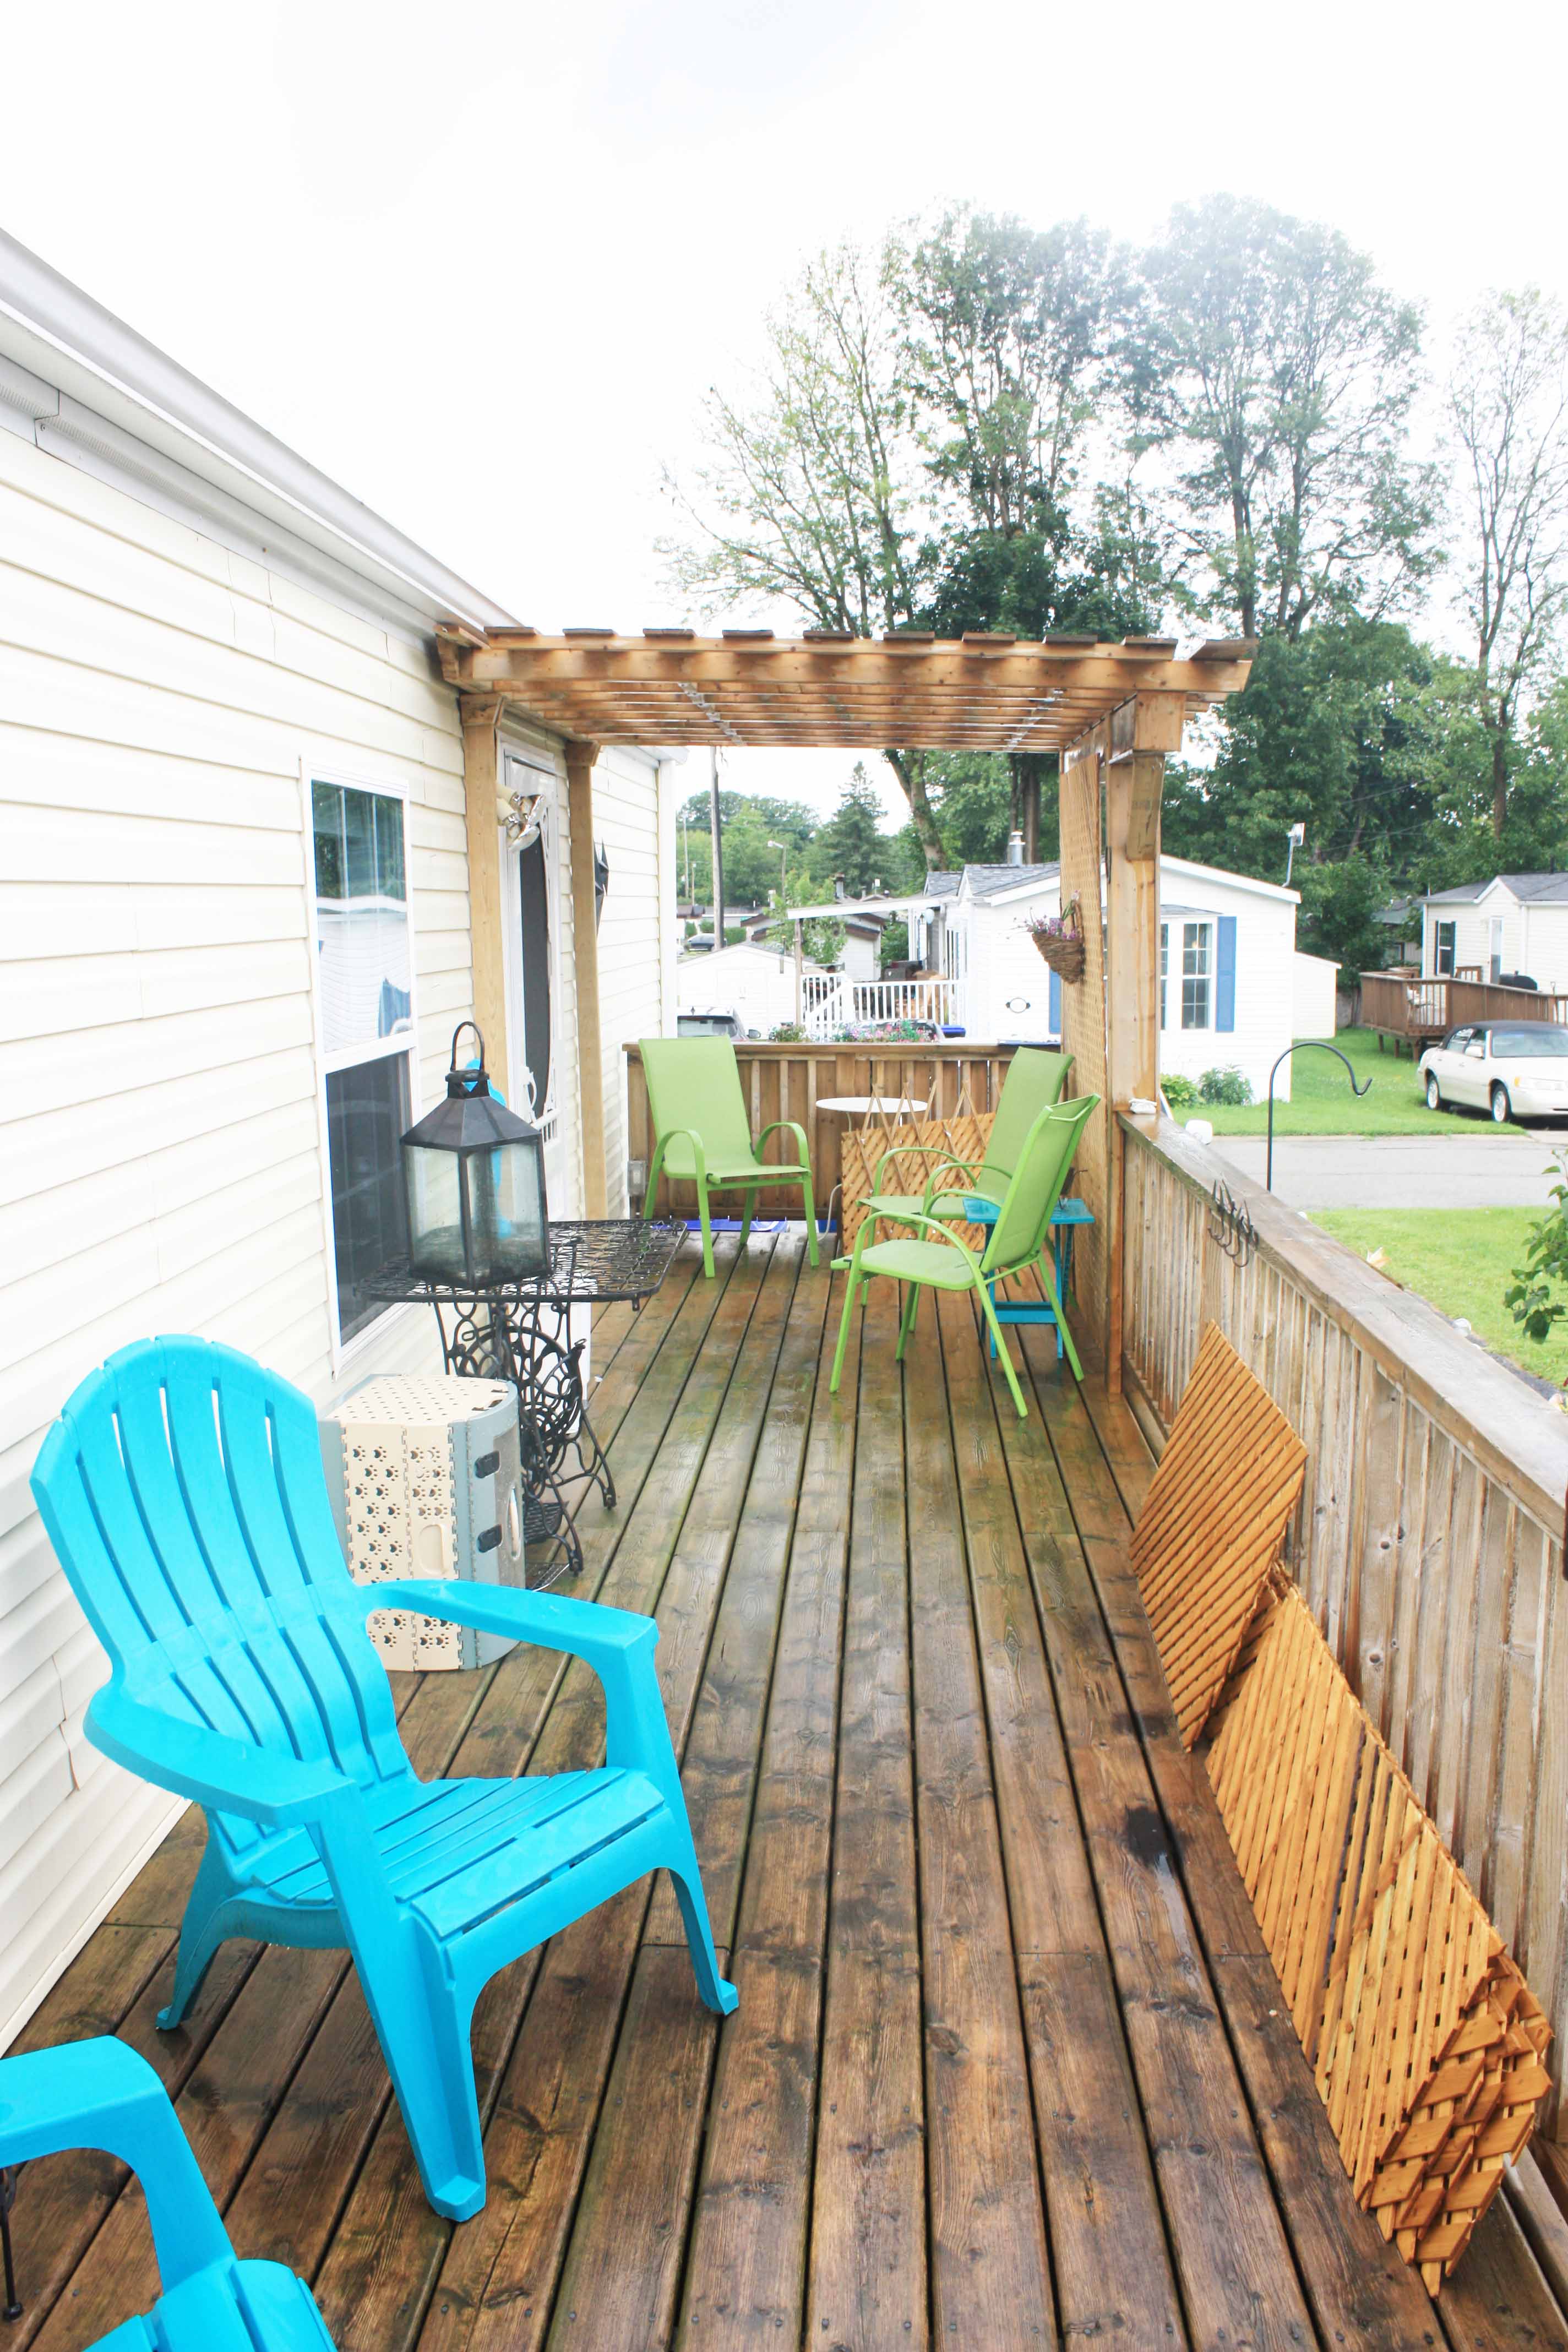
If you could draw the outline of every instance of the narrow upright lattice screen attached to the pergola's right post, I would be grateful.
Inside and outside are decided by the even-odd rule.
[[[1098,1094],[1103,1108],[1084,1129],[1072,1164],[1072,1190],[1093,1209],[1093,1225],[1077,1235],[1072,1289],[1077,1329],[1088,1331],[1100,1362],[1110,1343],[1110,1089],[1105,1084],[1105,929],[1100,917],[1100,760],[1063,764],[1060,781],[1063,906],[1079,901],[1084,920],[1084,978],[1063,981],[1063,1051],[1072,1054],[1072,1094]]]

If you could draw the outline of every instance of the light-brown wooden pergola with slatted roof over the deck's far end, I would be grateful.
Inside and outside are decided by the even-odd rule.
[[[1063,906],[1105,903],[1086,924],[1088,974],[1070,990],[1065,1044],[1077,1082],[1117,1110],[1159,1087],[1159,802],[1166,757],[1190,717],[1237,694],[1253,644],[1215,640],[1180,656],[1173,637],[1023,640],[898,630],[853,637],[726,628],[437,628],[442,675],[458,691],[465,746],[468,884],[475,1016],[505,1068],[501,948],[498,729],[508,710],[567,746],[571,898],[578,985],[583,1190],[604,1214],[599,974],[592,922],[592,762],[604,743],[644,750],[736,746],[1058,753],[1063,764]],[[1098,1228],[1091,1284],[1112,1383],[1119,1331],[1119,1129],[1100,1124],[1081,1160]]]

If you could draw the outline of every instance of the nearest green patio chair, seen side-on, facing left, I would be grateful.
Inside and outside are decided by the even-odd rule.
[[[849,1261],[849,1289],[844,1291],[839,1345],[832,1355],[832,1381],[827,1383],[832,1395],[839,1392],[839,1374],[844,1371],[849,1317],[856,1310],[858,1294],[872,1275],[886,1275],[891,1282],[907,1284],[903,1315],[898,1317],[898,1362],[903,1362],[903,1350],[907,1348],[910,1331],[914,1329],[922,1289],[973,1291],[980,1301],[980,1312],[990,1324],[997,1357],[1001,1359],[1001,1369],[1006,1374],[1006,1385],[1011,1388],[1013,1404],[1018,1406],[1018,1418],[1025,1421],[1027,1406],[1023,1402],[1018,1374],[1013,1371],[1013,1359],[1006,1352],[1001,1324],[997,1322],[992,1291],[999,1282],[1006,1282],[1009,1275],[1023,1275],[1034,1268],[1046,1298],[1056,1310],[1056,1327],[1063,1334],[1067,1362],[1072,1364],[1074,1376],[1079,1381],[1084,1378],[1084,1367],[1079,1364],[1079,1352],[1072,1345],[1072,1331],[1067,1329],[1067,1317],[1063,1315],[1063,1303],[1056,1294],[1056,1275],[1048,1263],[1048,1240],[1051,1216],[1056,1214],[1056,1204],[1063,1195],[1072,1155],[1077,1152],[1079,1136],[1084,1134],[1084,1127],[1098,1103],[1098,1094],[1079,1094],[1070,1103],[1056,1103],[1034,1117],[1018,1155],[1018,1167],[1013,1169],[1001,1200],[997,1223],[990,1230],[983,1258],[978,1258],[973,1249],[938,1216],[931,1216],[924,1209],[912,1214],[905,1211],[900,1216],[900,1223],[922,1228],[919,1240],[900,1237],[896,1242],[867,1242],[867,1235],[877,1230],[877,1218],[865,1218]]]

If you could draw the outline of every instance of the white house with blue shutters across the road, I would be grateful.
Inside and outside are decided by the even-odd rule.
[[[1056,866],[964,866],[933,875],[910,910],[910,955],[952,983],[952,1016],[971,1037],[1056,1040],[1063,981],[1030,938],[1060,913]],[[1237,1068],[1262,1096],[1293,1037],[1331,1037],[1335,967],[1295,953],[1300,896],[1276,882],[1159,861],[1161,1073]],[[1276,1096],[1288,1098],[1291,1063]]]

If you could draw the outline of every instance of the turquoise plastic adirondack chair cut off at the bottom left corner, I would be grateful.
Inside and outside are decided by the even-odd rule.
[[[96,2352],[331,2352],[310,2288],[282,2263],[240,2263],[190,2143],[146,2058],[66,2042],[0,2058],[0,2164],[101,2147],[141,2180],[162,2293]]]

